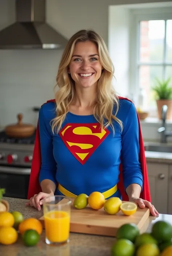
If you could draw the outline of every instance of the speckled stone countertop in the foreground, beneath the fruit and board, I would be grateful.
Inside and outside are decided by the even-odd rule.
[[[24,218],[40,218],[43,213],[35,208],[25,206],[27,200],[16,198],[3,198],[10,204],[10,211],[20,211]],[[150,216],[145,230],[151,231],[152,224],[157,220],[165,220],[172,224],[172,215],[160,214],[157,217]],[[114,237],[85,235],[70,233],[69,244],[61,247],[53,247],[45,243],[45,230],[43,230],[40,241],[35,247],[26,247],[21,238],[12,245],[0,245],[3,256],[110,256],[110,249],[114,243]]]

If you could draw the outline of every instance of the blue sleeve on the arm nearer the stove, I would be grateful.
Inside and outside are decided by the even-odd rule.
[[[56,161],[53,157],[53,141],[50,133],[50,123],[44,115],[44,107],[41,107],[39,112],[39,133],[41,146],[41,169],[39,181],[50,179],[55,184],[56,181]]]

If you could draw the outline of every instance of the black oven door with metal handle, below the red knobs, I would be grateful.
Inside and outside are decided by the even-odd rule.
[[[27,199],[30,168],[0,166],[0,187],[4,196]]]

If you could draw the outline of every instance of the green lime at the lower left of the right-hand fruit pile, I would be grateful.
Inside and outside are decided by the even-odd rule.
[[[111,248],[111,256],[134,256],[134,244],[127,239],[116,240]]]

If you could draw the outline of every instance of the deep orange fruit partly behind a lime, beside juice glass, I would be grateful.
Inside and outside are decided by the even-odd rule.
[[[37,220],[35,218],[25,219],[19,224],[19,232],[21,234],[23,234],[28,229],[36,230],[38,232],[38,234],[41,235],[42,224],[39,220]]]

